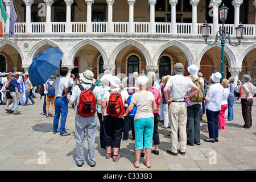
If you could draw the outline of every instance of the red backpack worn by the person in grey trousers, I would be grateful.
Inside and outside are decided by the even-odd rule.
[[[95,85],[92,85],[90,89],[85,88],[79,84],[81,94],[79,97],[79,104],[77,105],[77,114],[81,117],[92,117],[96,113],[96,98],[93,94]]]

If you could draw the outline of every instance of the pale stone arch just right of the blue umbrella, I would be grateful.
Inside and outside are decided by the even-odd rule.
[[[104,49],[101,47],[100,44],[98,44],[97,42],[95,42],[94,40],[91,39],[85,39],[85,40],[81,40],[79,43],[76,44],[76,46],[74,46],[72,48],[72,50],[69,52],[68,55],[68,60],[72,60],[72,64],[73,64],[73,60],[75,59],[76,54],[80,51],[80,49],[85,46],[86,44],[90,44],[91,46],[95,47],[98,49],[98,51],[100,51],[101,56],[103,57],[104,60],[104,64],[108,63],[108,57],[106,56],[106,52],[104,51]]]

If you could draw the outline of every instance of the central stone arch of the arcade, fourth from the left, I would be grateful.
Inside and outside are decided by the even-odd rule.
[[[110,56],[110,60],[109,60],[110,65],[115,64],[115,59],[117,58],[118,53],[126,46],[134,46],[134,47],[138,48],[143,53],[143,56],[146,59],[146,64],[151,65],[151,58],[150,58],[150,55],[149,55],[146,47],[144,47],[140,42],[138,42],[137,40],[134,40],[134,39],[125,40],[125,41],[121,42],[114,49],[114,51],[112,52],[112,55]]]

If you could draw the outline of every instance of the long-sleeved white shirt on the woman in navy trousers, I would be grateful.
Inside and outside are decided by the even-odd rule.
[[[220,83],[210,85],[205,100],[207,100],[206,109],[211,111],[220,111],[224,88]]]

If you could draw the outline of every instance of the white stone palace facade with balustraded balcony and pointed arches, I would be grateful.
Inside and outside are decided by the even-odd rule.
[[[7,13],[10,0],[3,0]],[[221,44],[208,46],[201,35],[207,20],[214,41],[221,23],[218,7],[229,7],[225,30],[232,42],[235,27],[246,27],[238,47],[225,44],[225,77],[256,78],[256,1],[253,0],[15,0],[18,19],[0,39],[0,72],[28,72],[37,53],[59,47],[61,67],[69,74],[86,69],[127,76],[134,71],[171,75],[180,62],[196,64],[205,78],[221,71]],[[56,74],[58,74],[56,72]],[[185,71],[184,75],[188,75]]]

